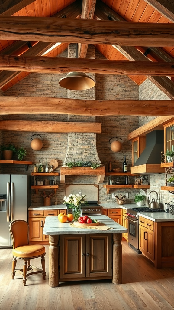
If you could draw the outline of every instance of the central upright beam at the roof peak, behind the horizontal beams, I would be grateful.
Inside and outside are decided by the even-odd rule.
[[[84,19],[93,19],[95,11],[96,0],[83,0],[81,18]],[[78,44],[78,58],[86,58],[86,53],[88,50],[88,44],[79,43]]]

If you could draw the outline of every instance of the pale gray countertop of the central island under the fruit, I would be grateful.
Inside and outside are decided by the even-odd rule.
[[[101,234],[101,233],[120,233],[127,232],[128,229],[116,223],[106,215],[98,215],[98,221],[113,229],[99,230],[87,227],[72,227],[71,222],[60,223],[57,216],[46,216],[43,228],[44,235],[63,235],[63,234]]]

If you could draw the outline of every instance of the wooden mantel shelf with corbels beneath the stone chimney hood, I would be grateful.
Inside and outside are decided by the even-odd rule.
[[[92,169],[91,167],[60,167],[60,183],[65,183],[65,175],[97,175],[97,184],[103,183],[105,167]]]

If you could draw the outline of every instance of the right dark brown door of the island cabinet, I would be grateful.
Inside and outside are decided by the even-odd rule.
[[[111,276],[111,234],[86,235],[86,277]]]

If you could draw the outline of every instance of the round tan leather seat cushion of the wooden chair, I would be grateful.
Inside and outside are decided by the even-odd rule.
[[[12,252],[16,258],[35,258],[45,255],[45,246],[41,244],[27,244],[25,246],[18,246]]]

